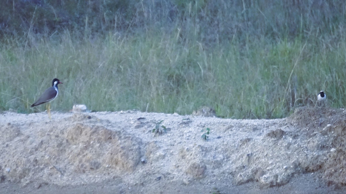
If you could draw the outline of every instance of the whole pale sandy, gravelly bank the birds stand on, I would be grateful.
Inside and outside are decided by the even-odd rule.
[[[0,193],[344,193],[345,116],[4,112]]]

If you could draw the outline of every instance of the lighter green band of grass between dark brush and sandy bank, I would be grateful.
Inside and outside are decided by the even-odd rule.
[[[0,46],[0,109],[32,113],[29,105],[53,78],[63,81],[54,110],[73,104],[91,110],[139,109],[191,114],[200,106],[231,118],[280,118],[292,107],[315,105],[325,90],[328,105],[346,103],[346,40],[234,39],[213,49],[176,33],[148,36],[37,39],[25,48]],[[12,42],[11,42],[12,41]],[[38,107],[44,110],[44,106]]]

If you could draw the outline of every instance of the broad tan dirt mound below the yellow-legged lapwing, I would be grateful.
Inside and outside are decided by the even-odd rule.
[[[6,173],[0,175],[6,180],[26,183],[37,179],[56,182],[72,173],[82,176],[97,171],[102,175],[110,169],[133,172],[140,159],[138,141],[122,130],[79,123],[92,120],[89,117],[74,115],[43,126],[31,123],[38,128],[33,134],[22,134],[12,124],[1,127],[1,142],[6,145],[0,161]],[[70,123],[73,118],[77,122],[66,127],[66,120]]]

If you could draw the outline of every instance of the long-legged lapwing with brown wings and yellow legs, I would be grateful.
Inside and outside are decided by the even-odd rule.
[[[46,89],[46,91],[44,91],[44,93],[38,98],[38,100],[36,100],[36,102],[31,105],[31,107],[34,107],[34,106],[49,102],[47,107],[49,119],[51,119],[51,102],[50,101],[54,100],[54,98],[56,98],[59,94],[58,84],[62,84],[62,83],[56,78],[53,79],[52,87]]]

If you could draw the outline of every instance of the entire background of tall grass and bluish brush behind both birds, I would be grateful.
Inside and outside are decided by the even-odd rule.
[[[320,90],[328,106],[343,108],[344,2],[323,2],[309,14],[305,2],[278,2],[160,1],[155,11],[154,4],[131,1],[126,6],[135,14],[117,13],[119,19],[103,4],[89,15],[89,8],[78,9],[86,15],[70,18],[75,23],[67,29],[74,30],[37,34],[33,29],[48,28],[37,20],[59,15],[33,7],[24,36],[1,35],[0,110],[45,110],[30,105],[53,78],[64,83],[52,103],[61,111],[85,104],[95,111],[191,114],[209,106],[226,118],[282,118],[314,106]]]

